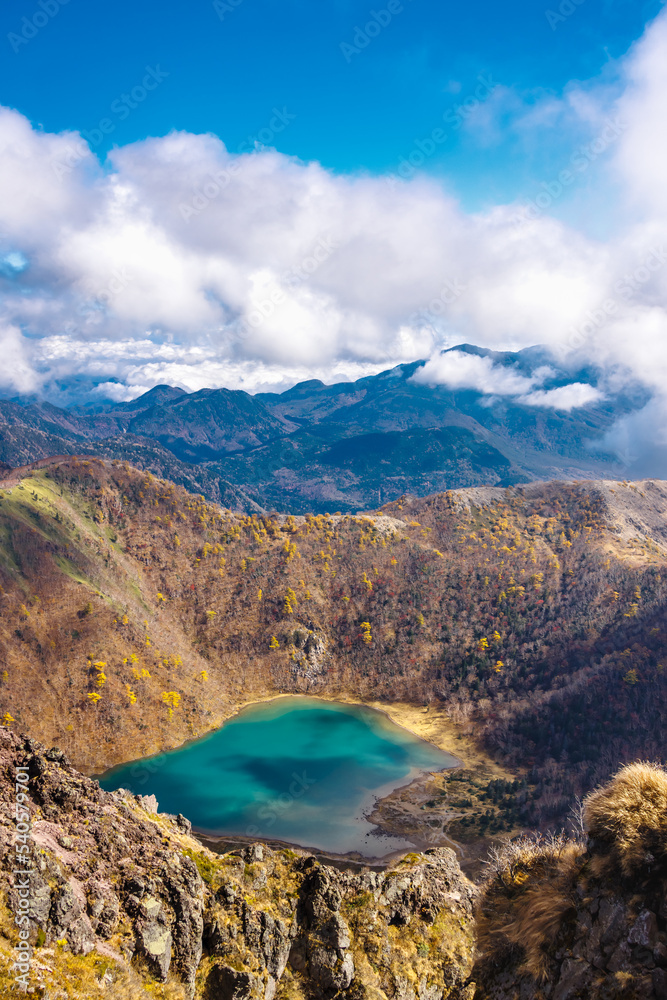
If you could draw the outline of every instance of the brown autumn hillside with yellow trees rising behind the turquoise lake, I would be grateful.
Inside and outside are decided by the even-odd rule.
[[[548,823],[662,752],[665,511],[556,483],[237,515],[68,459],[2,492],[0,712],[91,772],[260,695],[430,704],[521,769],[457,834]]]

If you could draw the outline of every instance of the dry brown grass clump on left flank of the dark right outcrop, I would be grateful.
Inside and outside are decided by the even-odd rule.
[[[522,839],[491,853],[477,945],[496,961],[520,956],[520,971],[543,979],[568,913],[583,845],[565,836]]]

